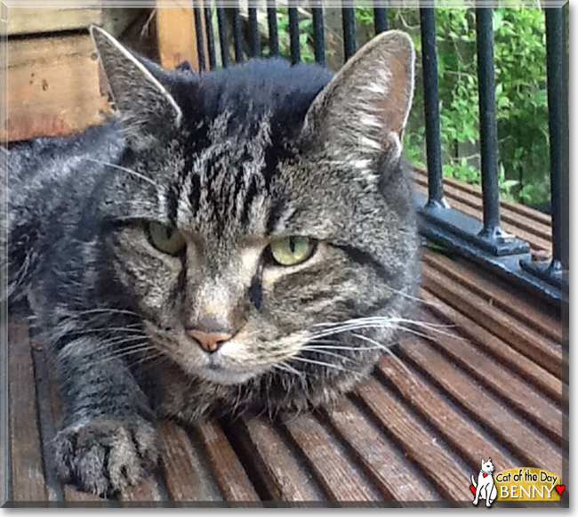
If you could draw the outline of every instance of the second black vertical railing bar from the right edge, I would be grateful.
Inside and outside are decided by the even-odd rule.
[[[476,8],[478,54],[479,138],[484,198],[484,230],[490,239],[500,236],[500,190],[498,187],[498,130],[495,115],[494,10]]]

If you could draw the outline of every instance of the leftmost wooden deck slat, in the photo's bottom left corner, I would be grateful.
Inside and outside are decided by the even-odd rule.
[[[8,343],[12,499],[47,501],[28,327],[11,321]]]

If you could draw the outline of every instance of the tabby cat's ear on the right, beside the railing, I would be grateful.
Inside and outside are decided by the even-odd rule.
[[[317,95],[304,131],[331,158],[367,170],[373,158],[401,156],[413,99],[410,36],[390,30],[351,58]]]

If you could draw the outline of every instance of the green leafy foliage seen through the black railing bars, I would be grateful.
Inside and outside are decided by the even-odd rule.
[[[290,56],[289,18],[278,10],[280,53]],[[476,19],[471,8],[436,9],[443,173],[480,183]],[[405,156],[425,165],[421,39],[417,9],[389,8],[389,28],[408,32],[417,52]],[[373,8],[356,8],[357,34],[373,37]],[[314,61],[310,18],[300,22],[301,59]],[[363,44],[358,37],[358,44]],[[327,49],[332,55],[336,49]],[[267,55],[267,53],[265,53]],[[544,15],[532,7],[494,9],[498,167],[502,196],[538,205],[550,198]]]

